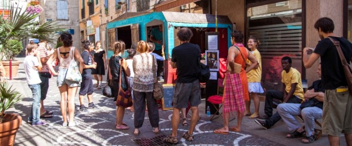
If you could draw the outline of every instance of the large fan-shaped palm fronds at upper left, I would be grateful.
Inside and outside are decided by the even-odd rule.
[[[0,16],[0,44],[2,44],[0,52],[3,51],[10,39],[23,40],[30,37],[52,43],[58,38],[59,33],[65,31],[65,29],[59,28],[56,21],[40,24],[39,17],[41,14],[30,14],[21,10],[22,8],[12,5],[9,18],[2,19],[3,16]]]

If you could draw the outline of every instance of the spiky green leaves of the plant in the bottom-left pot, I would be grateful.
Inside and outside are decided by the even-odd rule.
[[[0,84],[0,123],[2,123],[5,110],[12,108],[15,104],[22,100],[22,94],[8,83]]]

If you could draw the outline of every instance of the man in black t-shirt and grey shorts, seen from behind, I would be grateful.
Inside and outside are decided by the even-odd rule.
[[[200,48],[196,44],[190,43],[193,36],[189,28],[181,28],[177,37],[181,45],[175,47],[172,51],[170,65],[177,68],[176,88],[174,91],[174,112],[172,116],[172,134],[164,141],[172,144],[177,143],[177,127],[179,123],[179,112],[182,108],[187,108],[188,103],[191,105],[192,117],[191,125],[187,132],[183,133],[183,138],[187,141],[193,141],[193,131],[198,121],[198,105],[200,101],[200,84],[198,74],[200,72],[198,57],[200,57]]]

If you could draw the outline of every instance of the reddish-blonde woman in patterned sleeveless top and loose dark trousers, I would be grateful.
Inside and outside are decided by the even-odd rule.
[[[145,106],[147,101],[149,121],[154,128],[155,134],[159,129],[159,111],[156,100],[153,97],[154,83],[156,79],[156,60],[148,53],[149,46],[141,40],[137,44],[138,55],[133,57],[132,66],[134,71],[133,95],[134,95],[134,135],[139,135],[139,128],[143,126]]]

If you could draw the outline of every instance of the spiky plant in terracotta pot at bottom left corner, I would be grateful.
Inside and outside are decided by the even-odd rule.
[[[22,94],[8,83],[0,83],[0,146],[13,146],[22,117],[14,113],[5,113],[22,100]]]

